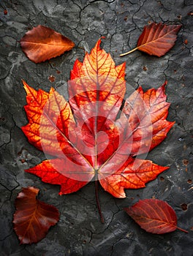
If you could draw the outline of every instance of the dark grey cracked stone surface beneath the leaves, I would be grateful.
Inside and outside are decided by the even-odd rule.
[[[1,255],[192,255],[192,11],[192,0],[0,1]],[[162,58],[136,51],[121,59],[119,54],[135,47],[149,21],[182,24],[175,46]],[[61,32],[76,47],[42,64],[29,61],[19,40],[39,24]],[[35,89],[48,91],[53,86],[60,91],[75,59],[83,60],[82,48],[90,51],[101,36],[106,37],[103,48],[116,64],[126,61],[128,85],[158,88],[167,79],[167,99],[171,102],[168,120],[175,121],[164,142],[147,157],[159,165],[169,165],[170,169],[144,189],[127,189],[126,199],[113,198],[99,189],[105,224],[99,221],[93,183],[60,197],[59,186],[45,184],[23,171],[41,162],[44,154],[28,143],[20,129],[27,124],[21,79]],[[48,79],[50,75],[56,78],[54,83]],[[60,92],[67,97],[67,91]],[[56,206],[61,217],[42,241],[20,245],[12,228],[12,214],[15,197],[21,187],[28,186],[41,189],[39,199]],[[139,199],[151,197],[167,201],[176,211],[178,226],[189,233],[146,233],[122,210]]]

